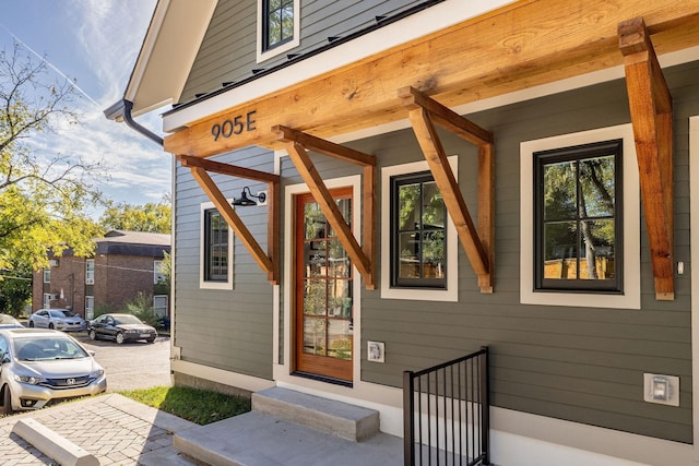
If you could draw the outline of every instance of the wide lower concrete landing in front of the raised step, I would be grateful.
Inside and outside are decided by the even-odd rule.
[[[354,442],[256,410],[180,431],[173,445],[196,464],[211,466],[403,464],[403,440],[398,437],[379,432]],[[159,466],[156,462],[146,464]]]

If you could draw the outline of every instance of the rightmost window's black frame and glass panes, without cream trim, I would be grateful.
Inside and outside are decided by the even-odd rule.
[[[534,154],[535,289],[623,291],[621,141]]]

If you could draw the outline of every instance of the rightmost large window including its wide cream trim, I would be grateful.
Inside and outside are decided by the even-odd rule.
[[[526,141],[520,150],[521,302],[639,309],[631,126]]]

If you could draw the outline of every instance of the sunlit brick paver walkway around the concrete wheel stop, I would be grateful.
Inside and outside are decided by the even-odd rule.
[[[173,434],[197,427],[118,394],[64,403],[37,411],[0,418],[2,466],[52,465],[54,462],[12,433],[19,419],[31,417],[83,447],[100,466],[135,466],[149,454],[173,449]]]

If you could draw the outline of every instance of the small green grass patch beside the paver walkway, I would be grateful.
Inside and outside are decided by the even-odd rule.
[[[250,399],[187,386],[155,386],[119,394],[204,426],[250,410]]]

